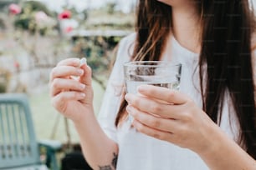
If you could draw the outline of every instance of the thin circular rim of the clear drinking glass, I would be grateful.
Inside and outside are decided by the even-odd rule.
[[[135,64],[137,63],[137,64]],[[144,63],[144,64],[143,64]],[[162,63],[163,65],[145,65],[145,63]],[[182,63],[179,62],[169,62],[169,61],[130,61],[130,62],[125,62],[124,67],[181,67]]]

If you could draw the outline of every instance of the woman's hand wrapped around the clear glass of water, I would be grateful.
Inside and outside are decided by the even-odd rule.
[[[141,95],[125,95],[126,110],[134,117],[137,131],[196,153],[212,143],[210,136],[217,125],[190,97],[151,85],[141,85],[138,92]]]

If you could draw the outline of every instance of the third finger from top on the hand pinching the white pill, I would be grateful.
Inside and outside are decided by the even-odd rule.
[[[85,85],[81,82],[64,78],[54,78],[50,86],[51,96],[55,96],[63,91],[83,92],[85,88]]]

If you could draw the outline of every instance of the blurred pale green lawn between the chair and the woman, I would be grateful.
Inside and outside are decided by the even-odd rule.
[[[104,89],[100,87],[97,82],[93,82],[95,91],[94,106],[95,113],[100,110],[101,100],[104,94]],[[42,92],[29,94],[29,102],[33,115],[33,125],[37,138],[40,139],[54,139],[62,143],[67,143],[67,135],[65,131],[64,117],[60,115],[50,103],[49,89]],[[59,118],[58,127],[55,131],[55,136],[52,138],[54,132],[54,124]],[[74,130],[73,122],[69,121],[69,132],[71,136],[71,143],[79,143],[79,137]]]

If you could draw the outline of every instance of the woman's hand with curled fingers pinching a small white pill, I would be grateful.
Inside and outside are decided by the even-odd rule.
[[[74,122],[94,114],[91,69],[79,65],[79,58],[64,59],[50,72],[49,80],[53,106]]]

